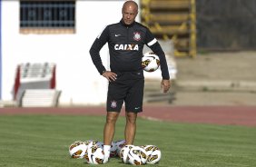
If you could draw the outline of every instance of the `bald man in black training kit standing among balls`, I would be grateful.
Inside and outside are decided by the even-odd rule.
[[[103,162],[108,162],[113,141],[115,123],[125,104],[126,125],[124,128],[125,144],[133,144],[136,133],[137,114],[143,112],[143,46],[146,44],[160,58],[162,70],[161,87],[167,93],[171,87],[170,76],[161,45],[150,30],[135,22],[138,5],[126,1],[122,8],[122,19],[119,23],[107,25],[97,36],[90,49],[90,54],[99,74],[108,82],[106,102],[106,122],[103,129]],[[110,70],[102,63],[100,50],[108,43]],[[157,111],[156,111],[157,112]]]

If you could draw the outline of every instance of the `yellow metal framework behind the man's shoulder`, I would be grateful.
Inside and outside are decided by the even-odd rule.
[[[175,56],[196,56],[195,0],[142,0],[142,23],[164,40],[172,39]]]

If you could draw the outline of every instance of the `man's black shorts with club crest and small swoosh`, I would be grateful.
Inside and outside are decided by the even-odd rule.
[[[107,112],[120,113],[123,102],[126,112],[143,112],[144,78],[120,79],[110,82],[107,93]]]

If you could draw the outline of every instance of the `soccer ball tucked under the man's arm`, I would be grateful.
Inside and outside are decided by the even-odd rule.
[[[159,56],[153,52],[143,54],[142,60],[143,70],[146,72],[154,72],[160,65]]]

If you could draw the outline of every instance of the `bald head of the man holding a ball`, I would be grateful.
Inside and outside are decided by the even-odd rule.
[[[125,25],[133,24],[137,14],[138,5],[134,1],[126,1],[122,8],[123,22]]]

